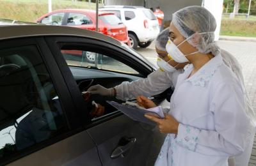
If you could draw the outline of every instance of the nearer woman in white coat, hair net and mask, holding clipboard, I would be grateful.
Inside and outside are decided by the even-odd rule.
[[[168,133],[155,165],[224,166],[246,149],[251,128],[243,84],[223,63],[215,29],[214,17],[200,6],[173,14],[166,50],[176,62],[191,64],[178,77],[166,117],[146,115]],[[138,102],[156,107],[143,96]]]

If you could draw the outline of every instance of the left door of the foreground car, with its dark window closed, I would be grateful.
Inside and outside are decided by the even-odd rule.
[[[0,41],[0,165],[102,165],[67,84],[44,38]]]

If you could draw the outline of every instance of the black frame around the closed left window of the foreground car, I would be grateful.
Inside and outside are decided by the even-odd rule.
[[[38,54],[40,54],[40,56],[42,57],[42,60],[45,63],[47,72],[49,72],[49,75],[51,76],[54,87],[56,88],[59,98],[61,99],[61,109],[63,111],[63,114],[65,114],[66,122],[68,124],[68,130],[64,133],[60,133],[60,135],[56,135],[55,137],[52,137],[51,139],[44,140],[42,142],[39,142],[38,144],[27,147],[26,149],[22,149],[19,152],[13,154],[13,156],[1,158],[0,165],[6,165],[7,163],[11,163],[15,160],[18,160],[19,158],[27,156],[36,151],[39,151],[44,147],[50,146],[51,144],[59,142],[60,140],[66,139],[67,137],[70,137],[71,135],[74,135],[84,130],[80,121],[81,117],[77,116],[76,107],[74,106],[74,103],[70,99],[67,86],[63,80],[62,75],[60,74],[60,70],[57,67],[56,61],[54,61],[51,51],[49,50],[49,48],[45,43],[44,38],[42,37],[33,37],[33,38],[31,37],[31,38],[22,38],[22,39],[19,38],[19,39],[15,39],[15,41],[13,41],[13,39],[0,40],[0,50],[11,49],[13,47],[22,47],[26,45],[28,46],[35,45],[36,48],[38,49]],[[45,58],[45,55],[47,55],[47,58]],[[57,83],[60,83],[60,80],[61,82],[63,82],[63,84],[57,84]]]

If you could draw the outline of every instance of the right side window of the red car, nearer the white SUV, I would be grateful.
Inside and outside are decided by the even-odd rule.
[[[92,24],[92,20],[81,13],[69,13],[67,26],[81,26]]]

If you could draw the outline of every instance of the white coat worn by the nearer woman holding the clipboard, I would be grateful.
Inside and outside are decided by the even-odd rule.
[[[177,137],[168,134],[155,165],[228,165],[228,156],[246,146],[250,119],[241,82],[216,56],[188,78],[180,74],[170,102],[179,121]]]

